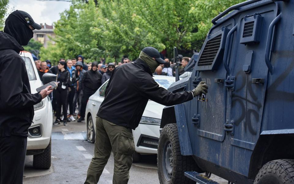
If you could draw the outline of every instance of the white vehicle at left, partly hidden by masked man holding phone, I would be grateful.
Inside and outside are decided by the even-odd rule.
[[[31,92],[43,86],[40,80],[32,54],[21,52],[30,80]],[[38,169],[48,169],[51,166],[51,133],[53,125],[52,105],[49,97],[34,105],[35,116],[28,128],[28,144],[26,155],[33,156],[33,166]]]

